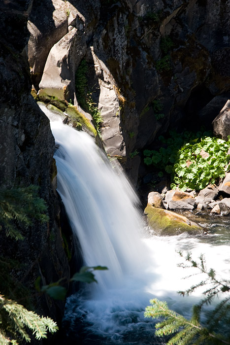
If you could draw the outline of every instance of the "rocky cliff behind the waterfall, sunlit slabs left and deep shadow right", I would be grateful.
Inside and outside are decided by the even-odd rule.
[[[33,1],[33,85],[46,102],[77,105],[85,59],[106,152],[136,182],[138,152],[168,128],[210,127],[228,100],[229,13],[221,0]]]

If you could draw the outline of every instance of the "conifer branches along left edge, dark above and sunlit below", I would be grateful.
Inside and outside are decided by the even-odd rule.
[[[34,220],[48,221],[45,214],[46,205],[43,199],[38,197],[38,187],[14,187],[0,189],[0,226],[5,230],[6,236],[15,240],[23,240],[19,227],[28,227]],[[56,322],[51,318],[41,317],[33,311],[29,311],[14,298],[22,298],[22,293],[28,293],[27,289],[13,279],[9,270],[16,270],[19,264],[12,259],[0,257],[0,344],[19,344],[22,339],[30,342],[31,338],[27,329],[33,332],[36,339],[47,338],[47,332],[54,333],[58,330]],[[20,292],[19,292],[20,290]],[[3,293],[2,293],[3,292]],[[27,297],[26,297],[27,299]]]

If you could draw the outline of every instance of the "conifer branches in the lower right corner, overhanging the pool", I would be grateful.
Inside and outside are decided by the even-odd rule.
[[[183,257],[182,253],[179,253]],[[204,298],[193,307],[190,319],[168,309],[166,302],[153,299],[151,306],[145,310],[145,317],[164,318],[156,327],[157,336],[170,336],[167,345],[190,345],[190,344],[230,344],[230,280],[219,279],[213,269],[207,269],[203,255],[199,261],[193,260],[190,253],[187,254],[184,268],[195,268],[195,274],[203,274],[206,278],[186,291],[179,291],[181,295],[189,295],[199,287],[205,287]],[[224,295],[223,295],[224,294]],[[224,296],[224,297],[223,297]],[[203,307],[210,305],[213,300],[221,297],[220,302],[213,307],[212,311],[206,312],[202,317]]]

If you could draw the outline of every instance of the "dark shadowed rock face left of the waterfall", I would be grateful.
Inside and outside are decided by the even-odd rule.
[[[25,230],[24,241],[13,241],[0,232],[0,251],[5,257],[14,253],[13,258],[25,265],[21,276],[16,278],[24,278],[26,286],[34,293],[34,281],[38,276],[43,284],[57,281],[69,276],[69,266],[54,189],[54,138],[49,120],[31,96],[30,71],[24,54],[32,2],[1,2],[0,5],[0,184],[3,187],[39,186],[40,197],[48,205],[50,220],[48,224],[34,223]],[[14,24],[12,28],[12,23],[17,29]],[[55,303],[44,296],[38,296],[33,302],[36,311],[61,319],[63,302]]]

